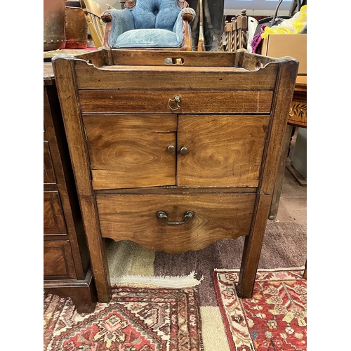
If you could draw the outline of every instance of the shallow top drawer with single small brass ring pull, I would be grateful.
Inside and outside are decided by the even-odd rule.
[[[270,114],[272,99],[272,91],[79,91],[83,113]]]

